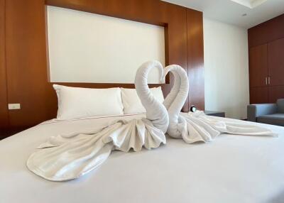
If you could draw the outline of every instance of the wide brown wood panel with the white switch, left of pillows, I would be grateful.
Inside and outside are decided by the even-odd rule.
[[[6,1],[6,67],[11,126],[31,126],[47,118],[45,6],[43,0]]]

